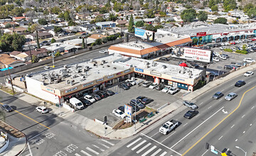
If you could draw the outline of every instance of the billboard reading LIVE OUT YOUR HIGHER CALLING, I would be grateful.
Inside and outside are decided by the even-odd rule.
[[[187,48],[174,46],[171,50],[172,57],[180,57],[186,60],[194,60],[198,62],[211,62],[211,50],[203,50],[198,48]]]

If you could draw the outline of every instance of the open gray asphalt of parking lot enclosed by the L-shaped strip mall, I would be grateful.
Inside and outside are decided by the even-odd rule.
[[[146,106],[157,109],[166,103],[173,103],[174,101],[181,99],[182,95],[186,93],[186,91],[180,90],[176,94],[171,95],[157,91],[156,89],[145,88],[138,84],[125,91],[119,89],[117,86],[110,88],[110,90],[114,91],[116,94],[108,96],[105,99],[101,99],[83,110],[76,111],[76,113],[92,120],[97,118],[100,121],[104,121],[104,116],[107,116],[107,123],[112,127],[122,120],[112,114],[113,109],[118,108],[119,106],[124,106],[124,104],[128,104],[129,101],[136,99],[137,96],[146,96],[154,99],[154,101]]]

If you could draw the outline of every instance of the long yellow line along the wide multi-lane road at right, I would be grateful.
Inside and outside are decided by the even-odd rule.
[[[255,86],[255,87],[256,87],[256,86]],[[186,155],[187,152],[189,152],[193,147],[195,147],[199,142],[201,142],[201,140],[203,140],[203,138],[206,138],[206,136],[207,136],[209,133],[211,133],[216,127],[218,127],[218,126],[220,125],[220,123],[223,123],[223,121],[225,121],[225,119],[227,119],[229,116],[231,116],[231,114],[233,114],[233,113],[240,107],[240,105],[241,105],[241,103],[242,103],[242,99],[244,98],[245,94],[246,94],[248,91],[254,89],[255,87],[252,87],[251,89],[248,89],[247,91],[245,91],[245,93],[242,94],[242,98],[240,99],[240,102],[239,102],[238,106],[234,109],[234,111],[232,111],[231,113],[228,114],[228,116],[226,116],[225,118],[223,118],[223,120],[221,120],[216,126],[214,126],[211,130],[209,130],[208,133],[206,133],[206,135],[203,135],[203,137],[202,137],[201,139],[199,139],[199,140],[198,140],[194,145],[192,145],[190,148],[188,148],[188,150],[186,150],[186,152],[184,152],[184,153],[182,154],[182,156],[183,156],[183,155]]]

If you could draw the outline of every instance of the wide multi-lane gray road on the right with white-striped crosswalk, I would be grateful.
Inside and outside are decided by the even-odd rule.
[[[254,71],[255,72],[255,71]],[[244,79],[247,84],[240,88],[234,84]],[[255,152],[255,75],[230,79],[205,94],[198,96],[193,102],[199,106],[198,115],[192,119],[183,118],[189,110],[186,108],[177,114],[166,116],[161,121],[142,131],[134,138],[123,140],[121,147],[105,152],[106,155],[215,155],[206,150],[206,143],[216,150],[229,150],[230,155],[248,155]],[[216,91],[222,91],[224,96],[218,100],[211,96]],[[230,92],[238,96],[232,101],[224,97]],[[176,130],[168,135],[159,133],[164,122],[175,119],[181,122]],[[119,145],[117,144],[117,145]],[[238,146],[242,150],[236,148]],[[220,155],[220,152],[218,155]],[[125,153],[125,154],[124,154]]]

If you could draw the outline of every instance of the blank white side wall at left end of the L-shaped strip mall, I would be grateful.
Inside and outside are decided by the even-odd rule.
[[[54,94],[50,94],[47,91],[43,91],[41,89],[41,84],[43,84],[43,82],[40,82],[36,79],[32,79],[30,77],[26,77],[26,85],[27,85],[29,94],[32,94],[34,96],[37,96],[47,101],[51,101],[53,103],[58,103],[59,102],[58,96],[55,96]]]

